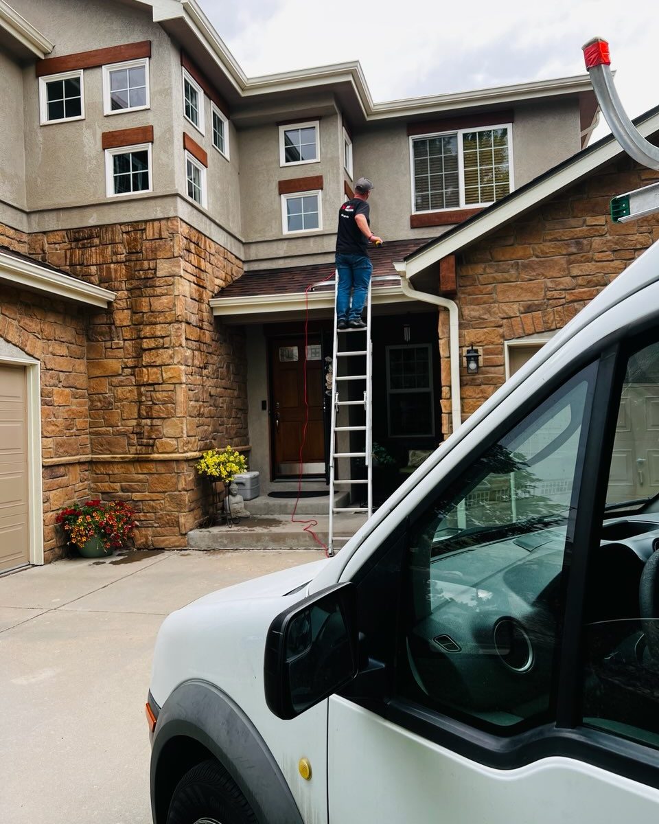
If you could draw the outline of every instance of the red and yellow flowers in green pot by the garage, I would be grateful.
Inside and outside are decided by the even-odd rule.
[[[83,558],[102,558],[133,537],[135,510],[124,501],[86,501],[62,509],[55,521]]]

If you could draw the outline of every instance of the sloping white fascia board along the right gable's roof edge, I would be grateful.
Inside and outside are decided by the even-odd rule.
[[[638,131],[643,137],[656,132],[657,129],[659,129],[659,115],[654,115],[638,126]],[[604,145],[591,151],[586,157],[577,158],[569,166],[563,166],[563,168],[555,171],[553,175],[540,180],[537,185],[531,186],[519,195],[503,201],[500,206],[494,204],[488,207],[484,210],[482,217],[474,218],[464,229],[451,232],[451,235],[446,237],[446,241],[440,240],[429,249],[419,251],[417,255],[409,258],[404,263],[394,264],[395,269],[404,271],[408,279],[413,278],[415,274],[422,272],[423,269],[428,269],[428,266],[442,260],[446,255],[453,255],[456,251],[469,246],[470,243],[478,241],[482,236],[493,232],[622,153],[622,147],[611,135]]]

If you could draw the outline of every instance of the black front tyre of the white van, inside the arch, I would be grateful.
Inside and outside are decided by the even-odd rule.
[[[217,761],[185,773],[171,797],[167,824],[259,824],[247,799]]]

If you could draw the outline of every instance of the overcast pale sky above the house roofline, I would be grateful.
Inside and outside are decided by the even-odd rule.
[[[652,0],[200,2],[248,77],[358,60],[382,102],[581,74],[599,35],[629,116],[659,104]]]

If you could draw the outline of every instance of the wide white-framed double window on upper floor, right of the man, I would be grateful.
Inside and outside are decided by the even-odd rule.
[[[493,203],[512,190],[510,127],[410,138],[414,212]]]

